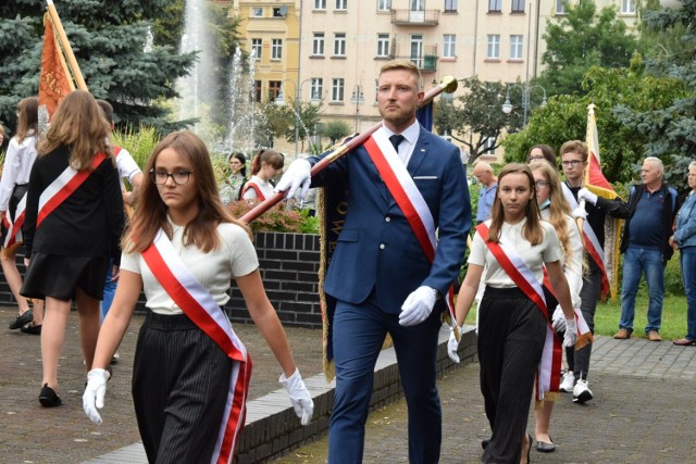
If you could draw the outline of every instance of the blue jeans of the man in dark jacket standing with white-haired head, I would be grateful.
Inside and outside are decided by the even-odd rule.
[[[645,333],[660,330],[662,321],[662,300],[664,298],[664,264],[660,250],[629,247],[623,256],[623,288],[621,290],[620,328],[633,330],[635,316],[635,296],[638,292],[641,276],[645,273],[650,302],[648,304],[648,325]]]

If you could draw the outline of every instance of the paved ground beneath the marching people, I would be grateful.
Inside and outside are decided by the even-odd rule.
[[[14,310],[0,309],[3,324]],[[0,330],[0,463],[80,463],[126,454],[145,462],[129,392],[130,365],[140,316],[134,317],[121,347],[121,362],[109,384],[104,424],[84,417],[80,396],[84,371],[77,316],[71,315],[61,358],[59,394],[64,405],[39,406],[39,337]],[[236,326],[254,362],[250,398],[277,389],[278,367],[254,326]],[[321,371],[321,334],[287,328],[304,377]],[[584,405],[563,394],[551,419],[558,449],[532,451],[534,463],[689,463],[696,462],[696,347],[670,341],[597,337],[589,387],[595,399]],[[476,363],[448,372],[439,381],[444,411],[442,463],[476,463],[481,439],[489,435],[478,389]],[[527,430],[533,434],[531,414]],[[370,415],[365,463],[408,462],[406,405],[394,403]],[[278,463],[326,462],[325,437],[278,460]],[[115,454],[113,452],[116,452]],[[101,456],[101,457],[100,457]]]

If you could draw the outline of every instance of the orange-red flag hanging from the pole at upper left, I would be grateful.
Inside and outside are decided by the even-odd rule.
[[[44,26],[46,34],[39,75],[39,122],[48,123],[58,103],[70,91],[75,90],[75,85],[48,13],[44,15]]]

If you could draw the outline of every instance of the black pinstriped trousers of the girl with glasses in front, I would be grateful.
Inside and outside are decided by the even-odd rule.
[[[133,402],[148,462],[211,462],[232,367],[186,315],[148,311],[133,367]]]

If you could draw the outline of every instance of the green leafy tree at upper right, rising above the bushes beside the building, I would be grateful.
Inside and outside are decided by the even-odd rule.
[[[574,2],[573,2],[574,3]],[[625,67],[637,50],[637,38],[626,32],[626,24],[617,18],[614,7],[597,14],[592,0],[570,4],[563,0],[567,15],[547,21],[545,65],[538,84],[549,95],[583,93],[581,83],[592,66]]]

